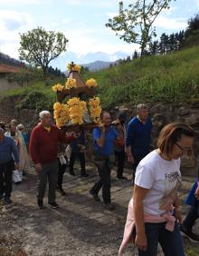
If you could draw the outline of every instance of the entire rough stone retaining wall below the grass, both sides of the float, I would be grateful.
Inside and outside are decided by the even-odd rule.
[[[0,103],[0,120],[6,123],[12,119],[16,119],[18,123],[24,123],[28,129],[38,123],[38,112],[35,110],[24,109],[17,111],[14,105],[19,102],[19,98],[6,99]],[[166,123],[185,122],[190,124],[195,132],[194,153],[191,157],[182,159],[182,171],[186,175],[195,175],[196,160],[195,156],[199,155],[199,102],[195,103],[150,103],[148,104],[153,128],[153,140],[156,144],[156,138],[159,131]],[[119,110],[125,110],[128,113],[128,119],[136,114],[136,106],[127,107],[120,106],[110,110],[113,119],[116,117]]]

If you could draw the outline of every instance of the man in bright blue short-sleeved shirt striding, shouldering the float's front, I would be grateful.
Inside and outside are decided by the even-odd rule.
[[[98,168],[100,181],[96,182],[90,190],[95,201],[100,201],[98,193],[102,187],[102,198],[105,208],[113,210],[110,200],[110,172],[111,166],[109,156],[113,153],[113,143],[118,139],[118,133],[110,126],[110,115],[108,112],[101,114],[101,126],[93,130],[95,164]]]

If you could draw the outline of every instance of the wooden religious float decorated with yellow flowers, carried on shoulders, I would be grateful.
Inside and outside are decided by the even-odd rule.
[[[81,66],[68,64],[69,75],[65,85],[55,84],[57,94],[53,104],[56,125],[65,132],[90,130],[100,125],[100,98],[96,96],[97,82],[90,78],[83,82]]]

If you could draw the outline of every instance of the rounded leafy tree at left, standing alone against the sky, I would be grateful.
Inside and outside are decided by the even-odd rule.
[[[66,51],[68,43],[64,34],[46,31],[42,27],[20,34],[20,37],[20,59],[29,64],[40,66],[43,69],[44,78],[50,62]]]

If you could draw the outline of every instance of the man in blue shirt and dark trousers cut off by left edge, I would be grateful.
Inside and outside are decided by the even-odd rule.
[[[4,133],[0,128],[0,200],[4,198],[5,203],[11,203],[12,174],[19,168],[19,156],[14,140]]]

